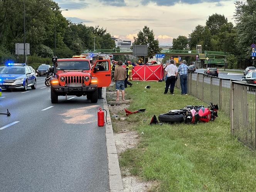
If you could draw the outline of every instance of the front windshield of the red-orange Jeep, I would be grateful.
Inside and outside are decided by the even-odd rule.
[[[58,61],[57,70],[90,70],[88,61]]]

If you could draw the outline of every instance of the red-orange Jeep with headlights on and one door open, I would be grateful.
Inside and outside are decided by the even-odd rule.
[[[91,67],[89,59],[57,59],[52,58],[55,73],[51,79],[51,101],[58,103],[58,96],[87,96],[91,103],[98,101],[98,88],[107,87],[111,83],[109,60],[99,60]]]

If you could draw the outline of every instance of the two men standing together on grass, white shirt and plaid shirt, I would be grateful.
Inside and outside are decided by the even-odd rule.
[[[180,87],[181,87],[181,95],[187,95],[187,62],[185,60],[179,61],[179,67],[176,67],[175,61],[171,60],[166,63],[164,79],[165,79],[165,91],[164,94],[168,93],[168,89],[170,88],[170,93],[173,93],[175,82],[178,79],[178,73],[180,77]]]

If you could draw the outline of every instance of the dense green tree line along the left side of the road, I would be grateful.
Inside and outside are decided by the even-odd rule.
[[[25,0],[25,37],[30,55],[52,57],[56,26],[56,55],[72,57],[83,50],[112,49],[115,41],[99,26],[75,24],[62,16],[53,0]],[[15,57],[15,43],[23,43],[24,0],[0,0],[0,62]]]

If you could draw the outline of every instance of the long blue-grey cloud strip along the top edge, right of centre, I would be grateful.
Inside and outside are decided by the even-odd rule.
[[[226,0],[226,1],[228,1],[228,0]],[[220,3],[220,0],[141,0],[142,5],[147,5],[150,2],[156,3],[158,6],[173,6],[177,3],[187,3],[187,4],[197,4],[197,3],[205,3],[205,2],[208,2],[208,3],[209,2],[210,3],[218,2],[218,3]]]

